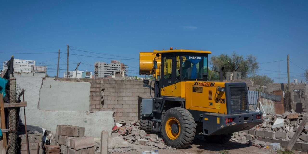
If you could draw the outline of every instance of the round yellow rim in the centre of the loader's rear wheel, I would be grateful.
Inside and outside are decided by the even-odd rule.
[[[178,131],[175,131],[176,129],[172,130],[172,125],[173,125],[173,128],[177,127]],[[179,120],[177,120],[174,117],[169,118],[166,122],[165,131],[169,139],[171,140],[177,139],[181,132]]]

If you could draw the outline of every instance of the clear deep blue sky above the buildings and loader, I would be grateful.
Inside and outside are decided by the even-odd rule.
[[[278,62],[265,62],[285,60],[289,54],[291,62],[308,68],[307,8],[308,1],[2,1],[0,52],[66,52],[67,44],[129,58],[139,58],[140,51],[169,47],[208,50],[212,55],[235,51],[257,56],[258,62],[264,63],[258,74],[278,82]],[[52,69],[57,68],[52,65],[57,63],[56,53],[0,53],[0,61],[11,55],[50,65],[48,74],[56,74]],[[66,55],[60,57],[60,68],[66,69]],[[80,69],[93,71],[89,65],[110,59],[70,55],[70,69],[79,61],[84,63]],[[138,75],[138,60],[121,62],[130,67],[129,75]],[[291,81],[304,79],[304,71],[293,63]],[[280,82],[287,82],[286,61],[280,61],[280,71]]]

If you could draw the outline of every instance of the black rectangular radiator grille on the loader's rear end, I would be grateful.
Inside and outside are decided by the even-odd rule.
[[[246,87],[230,87],[231,112],[247,111]]]

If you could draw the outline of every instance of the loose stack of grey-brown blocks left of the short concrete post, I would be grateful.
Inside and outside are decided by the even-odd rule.
[[[94,154],[94,138],[84,136],[84,127],[57,125],[57,133],[50,144],[60,146],[61,154]]]

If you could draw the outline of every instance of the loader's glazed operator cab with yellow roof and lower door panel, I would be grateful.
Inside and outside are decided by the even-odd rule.
[[[155,51],[154,51],[155,52]],[[160,51],[160,95],[185,97],[185,81],[207,81],[210,51]]]

